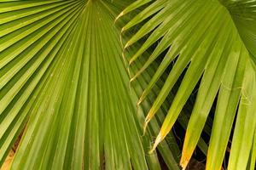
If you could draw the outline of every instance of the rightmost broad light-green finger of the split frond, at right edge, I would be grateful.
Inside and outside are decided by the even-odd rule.
[[[246,68],[243,91],[236,118],[236,128],[230,151],[230,169],[246,169],[250,151],[253,150],[253,133],[256,119],[256,79],[252,67]],[[250,130],[251,129],[251,130]],[[248,162],[250,164],[250,162]]]

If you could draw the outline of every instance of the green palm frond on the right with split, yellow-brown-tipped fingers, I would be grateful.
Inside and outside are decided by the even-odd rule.
[[[139,13],[138,8],[142,9]],[[154,48],[139,71],[132,75],[131,82],[141,77],[155,59],[165,55],[137,105],[147,99],[161,75],[172,67],[148,111],[145,129],[158,115],[160,106],[183,75],[152,150],[171,131],[190,94],[199,84],[180,165],[183,169],[188,166],[217,99],[206,169],[222,168],[231,135],[228,169],[253,170],[256,154],[256,1],[138,0],[125,8],[116,20],[123,15],[134,16],[123,26],[123,35],[139,26],[133,29],[135,32],[125,43],[125,51],[129,52],[135,42],[143,42],[137,53],[128,57],[130,68],[148,48]]]

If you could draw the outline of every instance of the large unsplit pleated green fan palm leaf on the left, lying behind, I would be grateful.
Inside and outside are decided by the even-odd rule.
[[[114,19],[130,3],[0,1],[0,167],[22,133],[14,170],[179,168],[172,134],[148,155],[165,111],[143,136],[160,89],[137,110],[157,66],[129,88]]]

